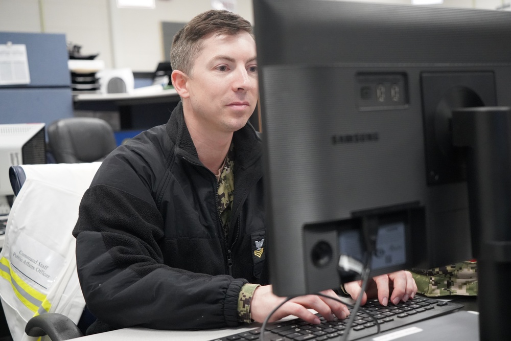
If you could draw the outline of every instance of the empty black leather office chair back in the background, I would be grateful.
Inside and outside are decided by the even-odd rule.
[[[48,127],[49,149],[57,163],[103,161],[117,147],[111,126],[92,117],[65,118]]]

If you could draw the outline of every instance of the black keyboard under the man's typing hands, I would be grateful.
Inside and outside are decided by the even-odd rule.
[[[413,300],[401,302],[398,305],[389,304],[387,307],[380,305],[378,300],[369,300],[359,309],[355,321],[351,326],[348,339],[356,340],[375,334],[378,330],[377,323],[380,325],[380,331],[383,332],[457,311],[462,307],[463,305],[458,303],[438,301],[423,297],[415,297]],[[320,325],[312,325],[300,319],[270,324],[266,326],[266,331],[263,335],[264,340],[341,340],[342,335],[346,332],[346,325],[350,317],[345,320],[335,319],[332,322],[328,322],[319,314],[318,316],[321,320]],[[247,332],[217,338],[212,341],[257,341],[260,338],[260,333],[261,328],[256,328]]]

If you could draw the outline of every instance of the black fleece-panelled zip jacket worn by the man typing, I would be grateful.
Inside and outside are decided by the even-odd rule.
[[[85,302],[98,319],[88,334],[238,324],[241,287],[266,284],[268,276],[265,252],[254,255],[255,241],[265,238],[261,140],[247,124],[233,141],[229,240],[215,174],[198,159],[181,104],[166,125],[106,158],[73,231]]]

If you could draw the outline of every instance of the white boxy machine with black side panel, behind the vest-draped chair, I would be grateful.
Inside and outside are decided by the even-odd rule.
[[[0,124],[0,215],[8,214],[12,196],[9,167],[46,163],[44,123]]]

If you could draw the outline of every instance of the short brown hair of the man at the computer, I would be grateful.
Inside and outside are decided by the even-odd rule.
[[[240,31],[252,35],[250,22],[238,14],[210,10],[195,16],[174,36],[170,51],[172,70],[191,76],[195,58],[202,50],[202,38],[211,33],[235,35]]]

